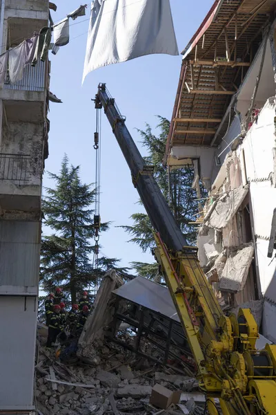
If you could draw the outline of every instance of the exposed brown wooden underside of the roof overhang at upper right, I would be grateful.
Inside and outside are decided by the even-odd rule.
[[[217,145],[214,136],[275,17],[276,0],[216,0],[184,59],[164,163],[173,145]]]

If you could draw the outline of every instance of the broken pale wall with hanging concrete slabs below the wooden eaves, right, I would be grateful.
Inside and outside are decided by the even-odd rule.
[[[208,243],[215,243],[215,231],[221,232],[221,248],[216,246],[216,250],[227,257],[228,266],[218,276],[213,261],[213,264],[208,264],[213,268],[207,270],[207,275],[212,278],[216,290],[235,293],[237,304],[244,299],[255,299],[257,292],[259,296],[264,295],[263,333],[270,340],[276,338],[276,329],[274,333],[270,320],[273,315],[271,308],[276,303],[275,264],[270,264],[271,260],[267,257],[271,220],[276,206],[274,117],[275,99],[269,98],[242,144],[236,151],[227,154],[205,207],[205,231],[199,232],[198,244],[201,264],[207,266],[206,241],[209,238]],[[248,257],[245,261],[242,253],[236,257],[238,262],[242,261],[242,264],[245,261],[246,264],[234,264],[232,250],[242,248],[242,244],[249,241],[253,241],[255,248],[254,272],[250,268],[253,246],[250,248],[250,260]]]

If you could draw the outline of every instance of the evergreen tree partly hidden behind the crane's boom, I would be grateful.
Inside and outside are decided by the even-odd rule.
[[[175,216],[179,227],[186,236],[188,243],[194,244],[196,232],[191,221],[195,220],[198,213],[198,205],[195,201],[195,190],[192,189],[193,169],[189,166],[173,169],[168,177],[168,169],[163,165],[163,158],[166,149],[166,140],[170,128],[170,122],[166,118],[158,117],[159,136],[152,132],[149,124],[146,129],[138,130],[142,138],[142,145],[146,147],[148,156],[144,160],[155,167],[155,179],[168,202],[172,214]],[[137,243],[143,252],[151,250],[155,246],[155,240],[152,235],[152,226],[147,214],[134,213],[130,216],[133,221],[132,225],[123,225],[122,228],[131,235],[130,241]],[[155,266],[155,268],[152,268]],[[140,275],[152,278],[156,264],[133,263],[133,268]]]

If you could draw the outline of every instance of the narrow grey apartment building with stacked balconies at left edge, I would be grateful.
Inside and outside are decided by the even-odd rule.
[[[48,26],[48,0],[1,0],[1,53]],[[0,89],[0,410],[33,409],[48,59]]]

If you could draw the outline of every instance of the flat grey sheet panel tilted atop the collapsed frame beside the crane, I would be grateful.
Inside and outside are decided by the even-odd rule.
[[[136,277],[113,293],[179,322],[168,288],[149,279]]]

